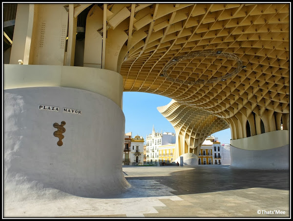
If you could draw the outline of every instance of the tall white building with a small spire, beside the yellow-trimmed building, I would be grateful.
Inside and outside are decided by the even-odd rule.
[[[146,135],[146,164],[159,164],[159,147],[175,143],[175,133],[156,132],[153,126],[152,133]]]

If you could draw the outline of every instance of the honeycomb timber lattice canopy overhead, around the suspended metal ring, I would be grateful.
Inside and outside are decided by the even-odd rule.
[[[289,113],[289,3],[107,5],[111,17],[124,7],[130,11],[128,56],[120,69],[125,92],[160,94],[220,118],[230,118],[243,107],[260,115],[265,110]],[[201,51],[237,55],[246,68],[206,85],[179,84],[163,76],[174,57]],[[235,68],[235,60],[196,57],[176,63],[168,74],[208,80]]]

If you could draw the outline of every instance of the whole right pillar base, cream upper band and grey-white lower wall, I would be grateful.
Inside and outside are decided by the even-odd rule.
[[[276,130],[230,141],[231,168],[289,169],[289,130]]]

